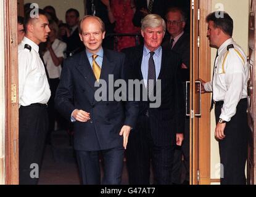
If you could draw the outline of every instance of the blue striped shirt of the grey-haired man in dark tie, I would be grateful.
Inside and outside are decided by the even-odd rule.
[[[149,49],[147,49],[146,46],[144,46],[143,49],[143,57],[142,57],[142,63],[141,63],[141,73],[143,76],[144,84],[147,87],[147,76],[149,74],[149,58],[151,57],[151,52]],[[160,69],[161,69],[161,63],[162,63],[162,47],[158,47],[156,50],[154,50],[155,54],[153,55],[153,59],[155,62],[155,77],[158,78]]]

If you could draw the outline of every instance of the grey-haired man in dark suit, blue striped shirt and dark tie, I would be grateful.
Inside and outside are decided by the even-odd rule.
[[[127,165],[131,184],[149,184],[150,161],[155,184],[171,184],[171,167],[175,145],[181,145],[184,130],[184,94],[180,78],[181,60],[171,50],[160,46],[165,34],[165,21],[149,14],[142,20],[144,46],[123,50],[126,69],[133,70],[136,79],[143,80],[146,92],[160,92],[160,106],[152,108],[147,101],[139,102],[139,117],[130,135]],[[156,80],[157,79],[157,80]],[[161,83],[160,89],[152,89]],[[161,81],[160,81],[161,80]],[[142,94],[142,93],[141,93]]]

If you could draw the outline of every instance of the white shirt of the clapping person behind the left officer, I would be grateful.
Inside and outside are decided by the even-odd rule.
[[[65,42],[60,41],[59,39],[55,39],[52,43],[52,50],[57,57],[64,58],[64,51],[67,49],[67,44]],[[44,53],[44,63],[46,64],[46,68],[49,74],[50,79],[56,79],[60,77],[61,73],[61,65],[56,66],[52,60],[51,54],[49,50],[46,50]]]

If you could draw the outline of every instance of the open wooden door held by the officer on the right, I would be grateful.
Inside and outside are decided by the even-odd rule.
[[[205,17],[210,0],[191,0],[190,184],[210,184],[210,95],[197,92],[210,81],[210,47]],[[186,109],[188,111],[188,109]]]

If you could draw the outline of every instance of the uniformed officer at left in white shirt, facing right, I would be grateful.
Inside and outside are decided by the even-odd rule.
[[[34,13],[35,14],[35,13]],[[44,11],[25,15],[25,37],[19,44],[19,178],[20,184],[36,184],[48,129],[47,102],[51,96],[47,71],[39,56],[49,23]]]

